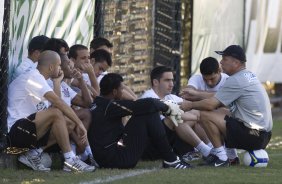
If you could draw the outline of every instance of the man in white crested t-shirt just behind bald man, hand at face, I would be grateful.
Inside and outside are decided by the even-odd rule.
[[[89,112],[89,107],[92,104],[92,98],[89,93],[89,90],[82,78],[81,72],[79,72],[77,69],[73,67],[71,64],[71,60],[68,58],[66,54],[60,54],[61,57],[61,69],[64,73],[64,79],[63,81],[55,81],[56,79],[49,79],[48,84],[53,88],[54,90],[60,89],[55,93],[58,93],[58,96],[60,96],[66,104],[68,104],[70,107],[72,105],[75,105],[77,107],[80,107],[79,109],[74,109],[74,112],[79,117],[79,119],[82,121],[83,125],[85,126],[86,130],[88,130],[88,127],[90,125],[91,121],[91,115]],[[65,81],[69,79],[76,79],[79,82],[79,89],[80,93],[76,93]],[[75,132],[72,132],[70,134],[70,137],[72,139],[72,150],[74,153],[76,153],[76,147],[80,148],[81,150],[79,152],[80,159],[82,161],[89,161],[90,165],[98,167],[96,161],[94,160],[91,148],[89,146],[88,140],[85,144],[81,144],[79,141],[79,137],[75,134]]]

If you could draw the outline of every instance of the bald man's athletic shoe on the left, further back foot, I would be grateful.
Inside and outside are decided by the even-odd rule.
[[[26,153],[18,157],[19,162],[32,168],[35,171],[50,171],[51,169],[45,167],[40,160],[41,160],[41,154],[38,154],[36,156],[31,156]]]

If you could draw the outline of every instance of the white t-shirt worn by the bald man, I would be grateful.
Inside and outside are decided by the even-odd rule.
[[[44,95],[53,91],[37,69],[22,74],[8,88],[8,131],[15,121],[47,109],[50,103]]]

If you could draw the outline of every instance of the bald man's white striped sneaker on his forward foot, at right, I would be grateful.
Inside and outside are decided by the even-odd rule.
[[[71,162],[64,162],[64,171],[76,171],[76,172],[92,172],[96,169],[95,166],[90,166],[79,159],[79,157],[74,157]]]

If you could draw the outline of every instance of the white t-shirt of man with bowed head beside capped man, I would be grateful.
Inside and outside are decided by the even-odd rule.
[[[188,86],[193,86],[197,90],[209,91],[209,92],[216,92],[218,91],[221,86],[225,83],[226,79],[229,76],[225,73],[221,73],[220,82],[213,88],[210,88],[204,81],[203,76],[201,74],[196,74],[190,77],[188,81]]]

